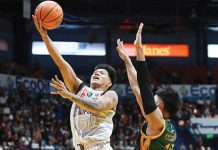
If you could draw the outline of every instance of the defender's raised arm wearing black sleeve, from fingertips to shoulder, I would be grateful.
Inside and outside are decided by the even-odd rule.
[[[137,80],[141,92],[144,113],[148,121],[148,130],[158,133],[164,126],[163,114],[155,103],[151,88],[149,70],[144,57],[144,49],[141,42],[143,24],[141,23],[134,42],[137,54]]]

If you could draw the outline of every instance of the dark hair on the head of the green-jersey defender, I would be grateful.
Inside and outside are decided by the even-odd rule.
[[[181,107],[181,100],[177,91],[171,88],[162,88],[156,91],[157,96],[164,103],[164,110],[170,117],[174,117]]]

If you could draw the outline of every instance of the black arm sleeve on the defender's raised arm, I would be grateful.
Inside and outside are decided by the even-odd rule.
[[[144,111],[148,115],[156,110],[157,105],[154,100],[146,61],[137,61],[136,70]]]

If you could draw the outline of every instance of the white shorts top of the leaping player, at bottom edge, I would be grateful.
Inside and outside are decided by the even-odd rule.
[[[88,147],[86,147],[85,145],[82,147],[84,149],[77,145],[75,146],[75,150],[113,150],[110,143],[97,143]]]

